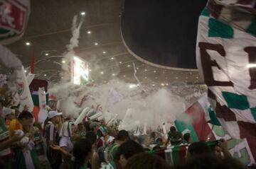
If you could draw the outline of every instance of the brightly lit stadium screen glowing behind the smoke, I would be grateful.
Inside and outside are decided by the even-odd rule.
[[[85,85],[89,82],[89,67],[87,62],[80,57],[73,57],[71,62],[71,81],[77,85]]]

